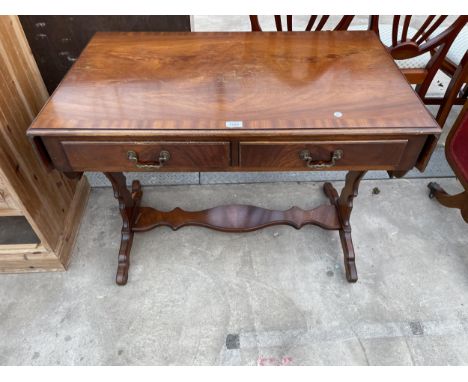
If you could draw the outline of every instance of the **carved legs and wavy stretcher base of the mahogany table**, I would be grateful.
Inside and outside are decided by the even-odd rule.
[[[267,210],[256,206],[229,205],[202,211],[184,211],[175,208],[169,212],[162,212],[150,207],[140,207],[142,196],[140,182],[134,181],[132,192],[130,192],[122,173],[107,172],[104,174],[112,183],[114,196],[119,201],[122,216],[122,237],[116,277],[118,285],[127,283],[134,232],[148,231],[158,226],[169,226],[176,230],[186,225],[203,226],[224,232],[250,232],[278,224],[288,224],[296,229],[305,224],[314,224],[324,229],[339,230],[346,278],[349,282],[357,281],[349,219],[353,199],[357,196],[359,182],[365,171],[349,172],[346,175],[341,195],[338,195],[330,183],[324,184],[324,191],[331,201],[331,206],[322,205],[311,210],[293,207],[286,211]]]

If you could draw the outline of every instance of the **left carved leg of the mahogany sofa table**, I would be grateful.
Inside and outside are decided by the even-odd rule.
[[[119,201],[120,214],[122,215],[122,237],[116,282],[118,285],[125,285],[130,267],[130,250],[133,242],[132,228],[138,215],[142,195],[141,185],[139,181],[133,181],[132,192],[130,192],[125,182],[125,175],[121,172],[105,172],[104,175],[112,184],[114,196]]]

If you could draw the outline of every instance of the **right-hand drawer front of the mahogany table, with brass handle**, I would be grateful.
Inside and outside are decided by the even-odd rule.
[[[407,140],[241,142],[240,166],[294,170],[394,169]]]

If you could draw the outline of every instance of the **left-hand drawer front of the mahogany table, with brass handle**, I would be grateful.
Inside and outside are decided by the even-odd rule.
[[[228,142],[64,141],[62,146],[74,171],[200,171],[230,165]]]

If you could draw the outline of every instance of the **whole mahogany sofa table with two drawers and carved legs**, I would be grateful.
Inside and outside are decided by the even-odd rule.
[[[98,33],[32,123],[42,158],[69,176],[101,171],[122,215],[117,284],[135,232],[275,224],[338,230],[357,280],[353,198],[366,171],[404,174],[440,128],[373,32]],[[140,207],[128,171],[347,170],[312,210]],[[285,195],[285,197],[287,197]]]

